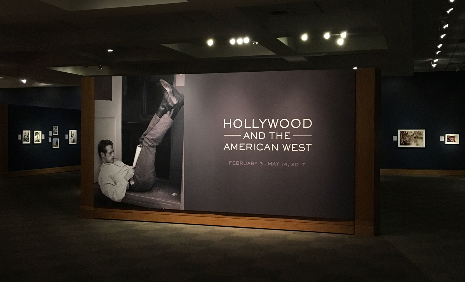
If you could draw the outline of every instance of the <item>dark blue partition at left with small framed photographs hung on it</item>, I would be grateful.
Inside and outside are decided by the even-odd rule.
[[[58,125],[58,135],[49,135]],[[31,144],[22,144],[18,135],[31,131]],[[45,139],[33,144],[34,131],[42,131]],[[65,135],[77,130],[77,144],[68,144]],[[8,170],[21,171],[60,166],[80,165],[81,111],[48,107],[8,105]],[[48,138],[59,138],[60,148],[52,149]]]

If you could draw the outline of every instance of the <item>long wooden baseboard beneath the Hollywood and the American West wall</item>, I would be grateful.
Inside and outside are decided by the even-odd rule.
[[[354,234],[353,220],[297,220],[94,207],[94,218]]]

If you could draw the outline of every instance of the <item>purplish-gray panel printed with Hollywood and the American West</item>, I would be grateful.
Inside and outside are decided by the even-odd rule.
[[[355,71],[186,75],[185,95],[186,210],[353,218]],[[224,119],[258,125],[259,119],[294,118],[309,118],[312,126],[223,128]],[[276,140],[272,131],[312,137]],[[243,139],[246,132],[266,138]],[[228,151],[226,143],[279,144],[279,150]],[[312,145],[283,151],[282,144],[292,143]]]

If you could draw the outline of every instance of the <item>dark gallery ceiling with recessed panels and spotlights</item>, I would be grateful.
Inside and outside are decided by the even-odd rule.
[[[0,87],[78,85],[82,76],[100,75],[374,67],[383,76],[412,76],[460,70],[464,2],[1,0]],[[333,34],[328,40],[327,31]],[[348,35],[339,46],[343,31]],[[300,40],[303,33],[307,41]],[[239,36],[251,43],[229,43]],[[206,44],[209,38],[213,46]]]

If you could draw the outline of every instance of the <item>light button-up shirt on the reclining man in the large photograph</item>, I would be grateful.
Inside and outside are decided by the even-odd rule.
[[[129,165],[115,160],[113,164],[106,163],[100,166],[99,185],[102,193],[115,202],[120,202],[126,195],[129,183],[124,179]]]

